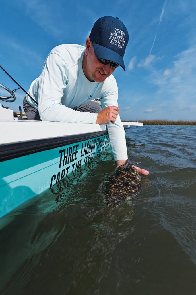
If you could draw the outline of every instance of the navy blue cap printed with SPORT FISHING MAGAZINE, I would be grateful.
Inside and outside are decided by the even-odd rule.
[[[118,17],[101,17],[89,36],[98,58],[118,63],[125,71],[123,56],[129,40],[128,31]]]

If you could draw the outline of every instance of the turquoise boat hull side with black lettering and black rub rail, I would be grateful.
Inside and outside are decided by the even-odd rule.
[[[110,147],[108,131],[1,145],[0,217]]]

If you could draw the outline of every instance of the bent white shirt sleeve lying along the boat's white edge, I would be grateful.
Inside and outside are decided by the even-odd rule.
[[[56,53],[49,54],[39,81],[38,111],[41,120],[96,124],[97,114],[78,112],[61,104],[68,77],[65,61]]]

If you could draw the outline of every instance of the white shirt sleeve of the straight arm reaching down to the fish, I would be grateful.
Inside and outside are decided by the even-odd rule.
[[[118,106],[118,86],[116,81],[114,81],[112,91],[109,91],[108,89],[106,93],[107,94],[105,94],[104,97],[100,98],[103,109],[105,109],[107,106]],[[114,160],[127,160],[128,155],[125,140],[125,130],[120,120],[119,114],[114,123],[107,123],[107,127]]]

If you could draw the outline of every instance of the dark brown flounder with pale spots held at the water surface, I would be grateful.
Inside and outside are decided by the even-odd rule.
[[[141,180],[134,164],[127,161],[126,164],[120,165],[104,182],[108,203],[118,203],[135,194],[141,187]]]

